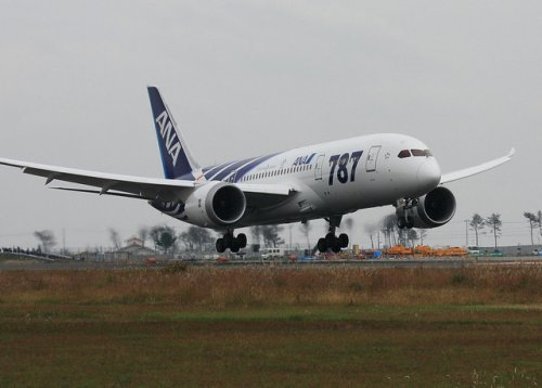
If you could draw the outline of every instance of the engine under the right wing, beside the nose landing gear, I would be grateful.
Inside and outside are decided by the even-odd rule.
[[[448,223],[455,214],[455,197],[446,187],[439,186],[417,199],[410,209],[397,209],[397,216],[405,219],[409,228],[430,229]]]

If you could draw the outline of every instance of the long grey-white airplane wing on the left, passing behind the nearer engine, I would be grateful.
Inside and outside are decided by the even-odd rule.
[[[132,176],[121,176],[98,171],[79,170],[74,168],[41,165],[36,163],[21,161],[0,158],[0,165],[18,167],[24,173],[46,178],[46,184],[52,181],[64,181],[77,183],[100,190],[52,187],[57,190],[77,191],[85,193],[106,194],[138,199],[176,202],[180,193],[194,190],[205,182],[196,182],[179,179],[156,179]],[[263,194],[272,196],[288,196],[295,190],[282,184],[236,184],[247,194]]]

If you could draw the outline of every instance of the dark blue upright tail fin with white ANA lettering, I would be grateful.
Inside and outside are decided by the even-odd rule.
[[[167,179],[181,177],[184,179],[194,179],[192,171],[199,169],[199,166],[192,158],[186,147],[186,142],[182,138],[181,132],[179,132],[177,124],[164,102],[158,88],[147,87],[147,91],[151,107],[153,108],[164,174]]]

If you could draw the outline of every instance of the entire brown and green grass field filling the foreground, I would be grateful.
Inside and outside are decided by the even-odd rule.
[[[541,269],[0,272],[0,386],[542,384]]]

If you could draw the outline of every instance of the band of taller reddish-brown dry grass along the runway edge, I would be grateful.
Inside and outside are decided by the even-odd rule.
[[[181,268],[0,273],[4,302],[183,307],[542,303],[542,269]]]

